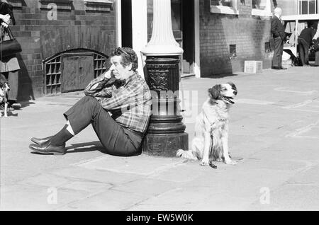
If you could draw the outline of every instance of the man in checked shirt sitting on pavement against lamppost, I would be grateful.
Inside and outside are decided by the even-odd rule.
[[[136,53],[129,47],[116,48],[111,54],[111,68],[91,81],[84,90],[86,96],[64,113],[65,127],[51,137],[33,137],[29,148],[40,154],[65,154],[65,143],[91,124],[104,153],[141,154],[152,95],[136,69]]]

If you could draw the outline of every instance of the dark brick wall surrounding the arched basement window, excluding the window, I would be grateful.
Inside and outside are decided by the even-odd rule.
[[[13,35],[21,43],[18,54],[19,100],[43,96],[42,62],[64,50],[86,48],[109,55],[116,47],[115,12],[90,7],[84,0],[8,0],[13,4],[16,25]],[[57,5],[57,19],[52,19],[52,8]],[[67,4],[66,4],[67,3]],[[111,7],[111,4],[110,4]]]

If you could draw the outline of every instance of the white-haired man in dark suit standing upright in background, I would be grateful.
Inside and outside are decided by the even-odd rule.
[[[284,21],[281,21],[281,8],[274,9],[274,16],[272,17],[271,33],[274,37],[274,56],[272,57],[272,69],[286,69],[282,67],[282,54],[284,51],[284,40],[286,33],[284,28]]]

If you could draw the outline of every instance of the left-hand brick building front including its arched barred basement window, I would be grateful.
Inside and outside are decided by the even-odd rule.
[[[82,90],[116,47],[112,1],[8,0],[21,43],[18,100]]]

